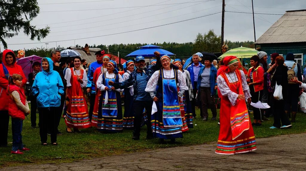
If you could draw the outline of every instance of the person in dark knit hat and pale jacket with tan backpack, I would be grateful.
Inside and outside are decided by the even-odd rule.
[[[293,70],[295,75],[288,75],[288,81],[294,77],[297,77],[299,81],[302,81],[301,67],[294,60],[294,54],[288,53],[286,55],[285,66],[288,70]],[[290,78],[289,78],[290,77]],[[291,122],[295,122],[295,116],[297,115],[297,102],[300,96],[299,85],[288,82],[287,99],[285,99],[285,112],[290,117],[290,111],[292,113]]]

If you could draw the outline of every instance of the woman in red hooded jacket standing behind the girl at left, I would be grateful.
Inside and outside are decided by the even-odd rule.
[[[2,55],[2,64],[0,64],[0,146],[7,146],[7,133],[9,129],[9,95],[6,94],[6,88],[9,85],[9,75],[19,74],[22,76],[23,87],[27,78],[25,77],[20,65],[16,64],[16,57],[12,50],[4,50]]]

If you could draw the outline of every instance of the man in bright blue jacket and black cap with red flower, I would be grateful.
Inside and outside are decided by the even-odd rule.
[[[103,51],[96,51],[95,55],[96,55],[96,59],[97,61],[92,62],[89,65],[88,68],[88,72],[87,72],[87,93],[90,93],[90,99],[89,99],[89,103],[90,103],[90,107],[89,107],[89,119],[91,120],[92,117],[92,111],[94,109],[94,104],[95,104],[95,82],[93,82],[93,76],[94,76],[94,72],[97,68],[101,67],[103,65],[103,59],[102,56],[104,55],[104,50]]]

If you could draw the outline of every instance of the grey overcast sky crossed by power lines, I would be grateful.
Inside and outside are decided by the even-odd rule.
[[[84,1],[87,2],[76,3]],[[75,44],[84,46],[86,43],[89,45],[149,44],[164,41],[185,43],[193,42],[197,33],[205,33],[209,29],[214,29],[218,35],[221,34],[221,13],[213,13],[222,11],[222,0],[206,0],[207,2],[203,2],[205,0],[84,1],[38,0],[40,13],[31,24],[37,28],[50,26],[50,34],[41,40],[41,43],[38,43],[39,41],[31,41],[21,32],[16,37],[6,39],[6,42],[22,45],[8,45],[8,48],[19,50],[46,47],[45,42],[49,42],[48,48],[56,47],[56,44],[61,47],[69,47]],[[252,12],[251,0],[225,0],[225,2],[226,11]],[[254,12],[257,13],[284,14],[287,10],[298,9],[306,9],[305,0],[254,0]],[[209,14],[213,15],[205,16]],[[205,17],[192,19],[200,16]],[[256,39],[258,39],[281,15],[255,14],[255,17]],[[187,19],[192,20],[175,23]],[[145,29],[169,23],[174,24]],[[140,31],[122,33],[132,30]],[[252,14],[225,12],[224,40],[254,41]],[[3,46],[0,45],[0,47],[3,51]]]

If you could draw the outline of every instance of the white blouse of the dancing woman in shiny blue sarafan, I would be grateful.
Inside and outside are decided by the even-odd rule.
[[[174,70],[163,70],[163,75],[165,78],[174,78]],[[183,93],[185,90],[188,90],[187,84],[186,84],[186,78],[185,74],[181,72],[180,70],[177,71],[177,79],[178,79],[178,84],[180,88],[179,96],[182,97]],[[151,97],[153,98],[155,96],[155,90],[158,84],[158,79],[159,79],[159,71],[155,71],[151,78],[149,79],[147,83],[147,87],[145,89],[146,92],[149,92]]]

